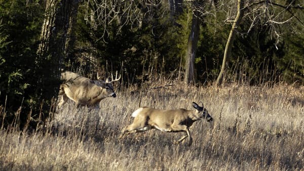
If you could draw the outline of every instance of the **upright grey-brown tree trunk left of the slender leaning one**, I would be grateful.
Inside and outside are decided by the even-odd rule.
[[[200,32],[200,19],[198,17],[199,12],[193,12],[191,32],[188,38],[188,50],[187,59],[185,65],[185,75],[184,82],[191,83],[194,82],[194,60],[197,51],[199,32]]]

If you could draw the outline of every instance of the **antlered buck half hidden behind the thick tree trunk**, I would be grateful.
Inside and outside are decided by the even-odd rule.
[[[116,97],[113,90],[112,82],[118,81],[121,78],[116,77],[111,81],[108,78],[105,81],[91,80],[83,77],[77,73],[65,71],[61,73],[61,80],[63,83],[60,85],[59,95],[61,96],[58,106],[61,107],[68,99],[71,99],[76,103],[77,106],[87,105],[90,107],[99,106],[99,102],[107,97]]]

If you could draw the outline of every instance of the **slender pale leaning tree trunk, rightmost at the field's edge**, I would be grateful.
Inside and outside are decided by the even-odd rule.
[[[234,20],[234,23],[233,23],[232,27],[231,27],[230,34],[229,34],[229,37],[228,37],[227,42],[226,42],[226,47],[225,47],[225,51],[224,51],[222,66],[221,66],[220,72],[219,72],[218,77],[217,77],[216,82],[215,82],[216,85],[220,85],[222,83],[226,60],[231,57],[231,49],[232,49],[232,45],[233,45],[235,35],[236,35],[236,30],[235,29],[240,25],[240,22],[242,20],[243,15],[244,15],[243,8],[244,8],[244,0],[238,0],[237,16]]]

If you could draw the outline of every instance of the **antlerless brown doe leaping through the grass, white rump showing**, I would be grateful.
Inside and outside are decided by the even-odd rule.
[[[193,107],[195,110],[162,110],[141,107],[132,113],[132,117],[135,117],[133,123],[122,130],[119,138],[123,138],[125,135],[132,133],[158,129],[163,132],[186,132],[185,136],[174,141],[174,143],[179,143],[188,137],[189,145],[191,145],[192,138],[188,127],[199,119],[206,118],[208,122],[213,120],[204,106],[199,106],[193,102]]]

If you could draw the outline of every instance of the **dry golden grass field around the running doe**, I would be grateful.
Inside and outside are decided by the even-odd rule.
[[[0,130],[0,170],[303,170],[304,87],[174,86],[117,91],[100,110],[70,102],[32,133]],[[213,122],[184,133],[150,130],[119,140],[140,106],[192,109]]]

